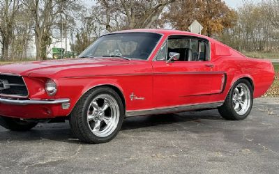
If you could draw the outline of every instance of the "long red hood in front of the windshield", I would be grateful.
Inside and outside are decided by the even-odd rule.
[[[130,61],[121,58],[75,58],[50,61],[13,63],[0,66],[0,73],[20,74],[21,76],[53,75],[65,70],[125,65]]]

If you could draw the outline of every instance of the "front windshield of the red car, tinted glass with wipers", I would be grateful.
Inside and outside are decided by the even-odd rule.
[[[157,33],[116,33],[100,37],[78,56],[123,57],[146,60],[161,35]]]

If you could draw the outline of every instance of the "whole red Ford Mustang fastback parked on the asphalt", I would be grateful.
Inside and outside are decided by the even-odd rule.
[[[269,61],[184,31],[109,33],[79,58],[0,66],[0,119],[25,131],[70,120],[78,139],[103,143],[130,116],[218,109],[243,120],[274,79]]]

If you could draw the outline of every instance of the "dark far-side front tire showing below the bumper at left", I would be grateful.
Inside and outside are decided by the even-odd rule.
[[[8,118],[0,116],[0,125],[12,131],[28,131],[35,127],[37,124],[38,122],[28,122],[26,120],[20,120],[20,118]]]

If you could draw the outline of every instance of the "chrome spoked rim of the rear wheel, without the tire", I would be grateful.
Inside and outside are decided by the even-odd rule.
[[[243,83],[238,84],[232,95],[234,111],[239,115],[244,115],[250,108],[250,102],[251,96],[248,86]]]

